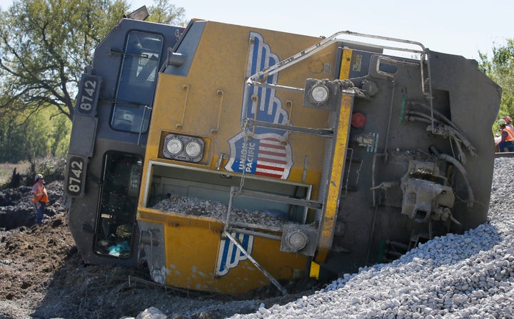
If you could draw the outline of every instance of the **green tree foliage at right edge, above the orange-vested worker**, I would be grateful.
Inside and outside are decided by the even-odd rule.
[[[498,118],[514,117],[514,39],[508,39],[504,46],[493,47],[493,56],[489,59],[480,53],[479,67],[502,88]],[[498,132],[495,123],[493,132]]]

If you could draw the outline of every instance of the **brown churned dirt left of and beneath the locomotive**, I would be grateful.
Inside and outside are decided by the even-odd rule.
[[[34,224],[30,188],[0,190],[0,318],[135,317],[151,307],[167,318],[224,318],[313,291],[281,296],[271,287],[234,298],[157,285],[145,268],[84,265],[68,228],[63,183],[46,188],[51,205],[41,225]]]

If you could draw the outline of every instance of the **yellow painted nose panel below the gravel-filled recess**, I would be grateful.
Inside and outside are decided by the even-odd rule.
[[[166,238],[166,284],[215,293],[244,293],[270,285],[270,281],[249,260],[243,260],[226,275],[216,277],[216,263],[223,224],[211,218],[144,209],[138,220],[163,224]],[[227,238],[228,240],[228,238]],[[305,275],[308,258],[281,253],[280,242],[254,237],[253,253],[257,262],[277,280]],[[273,251],[273,254],[270,252]]]

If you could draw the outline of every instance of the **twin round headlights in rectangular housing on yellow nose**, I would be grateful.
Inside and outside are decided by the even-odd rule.
[[[201,138],[168,134],[164,138],[163,155],[177,161],[197,163],[203,157],[205,143]]]

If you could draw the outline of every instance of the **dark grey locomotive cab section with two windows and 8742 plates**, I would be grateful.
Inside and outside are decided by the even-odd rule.
[[[137,263],[136,208],[158,69],[182,31],[122,19],[84,71],[65,187],[85,263]]]

